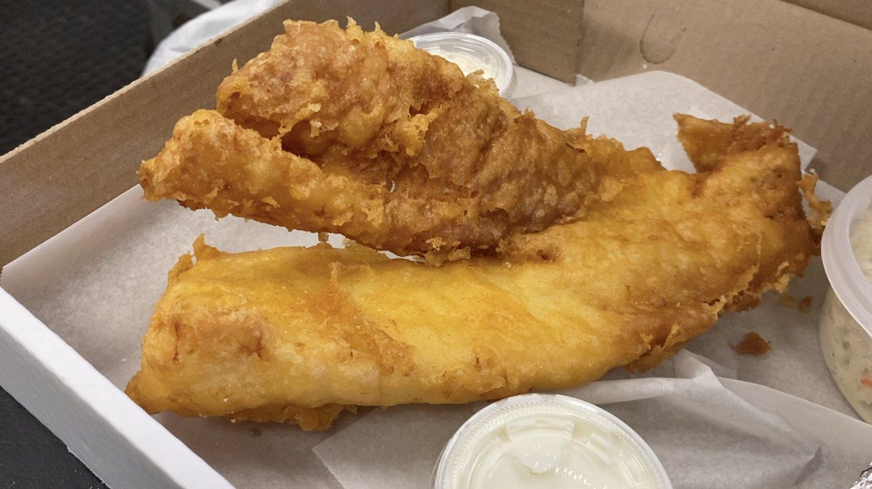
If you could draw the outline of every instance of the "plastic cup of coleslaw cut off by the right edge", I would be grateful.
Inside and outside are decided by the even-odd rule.
[[[821,351],[841,393],[872,424],[872,177],[856,184],[821,239],[829,291]]]

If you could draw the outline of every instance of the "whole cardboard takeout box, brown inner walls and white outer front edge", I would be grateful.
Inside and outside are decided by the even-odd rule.
[[[266,50],[283,19],[354,17],[394,33],[468,4],[500,15],[530,69],[564,81],[672,71],[793,127],[819,150],[812,168],[841,190],[872,172],[872,4],[863,0],[290,1],[0,158],[0,265],[136,184],[138,164],[175,121],[211,107],[233,59]],[[109,486],[229,486],[51,328],[0,291],[0,385]]]

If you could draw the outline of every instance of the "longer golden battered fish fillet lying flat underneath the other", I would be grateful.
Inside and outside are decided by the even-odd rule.
[[[733,129],[679,119],[691,122]],[[148,412],[324,429],[355,405],[578,385],[656,365],[722,312],[783,291],[817,251],[787,136],[698,174],[609,173],[622,171],[586,218],[508,238],[511,261],[436,268],[360,245],[231,254],[198,240],[195,261],[170,272],[126,392]]]

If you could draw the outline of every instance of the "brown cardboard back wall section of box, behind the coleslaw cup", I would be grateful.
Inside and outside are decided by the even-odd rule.
[[[586,77],[671,71],[794,128],[841,190],[872,172],[872,30],[781,0],[588,0],[582,34]]]

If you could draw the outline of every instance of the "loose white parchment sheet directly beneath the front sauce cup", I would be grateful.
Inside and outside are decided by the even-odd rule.
[[[677,488],[848,487],[856,467],[868,463],[869,425],[762,385],[719,378],[708,363],[685,350],[655,377],[562,393],[623,419]],[[426,488],[441,447],[480,405],[373,411],[315,452],[347,488]]]

